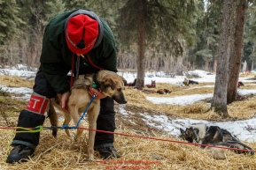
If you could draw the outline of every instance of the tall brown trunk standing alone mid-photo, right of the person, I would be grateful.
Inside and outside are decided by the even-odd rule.
[[[145,0],[138,3],[138,57],[136,86],[144,87],[144,51],[145,51]]]

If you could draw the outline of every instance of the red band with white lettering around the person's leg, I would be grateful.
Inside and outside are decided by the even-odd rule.
[[[49,103],[49,99],[39,95],[36,92],[33,92],[30,100],[27,103],[27,107],[25,110],[38,114],[38,115],[44,115],[45,109]]]

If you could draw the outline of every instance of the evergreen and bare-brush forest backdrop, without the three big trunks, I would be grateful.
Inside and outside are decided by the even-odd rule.
[[[136,70],[136,0],[0,0],[0,64],[36,67],[43,31],[63,11],[85,8],[104,18],[112,28],[118,49],[118,68]],[[145,70],[182,74],[188,70],[216,71],[223,1],[144,1]],[[130,9],[130,11],[124,9]],[[134,13],[134,15],[133,15]],[[127,14],[127,15],[126,15]],[[125,17],[124,17],[125,16]],[[166,19],[168,25],[155,23]],[[248,2],[241,69],[253,70],[256,58],[255,4]],[[124,27],[125,23],[129,26]],[[163,29],[165,27],[165,29]],[[158,31],[156,31],[158,30]],[[167,31],[168,30],[168,31]],[[165,32],[165,33],[162,33]],[[163,38],[164,37],[164,38]]]

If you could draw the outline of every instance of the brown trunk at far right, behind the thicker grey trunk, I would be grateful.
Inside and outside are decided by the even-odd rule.
[[[228,84],[228,104],[237,99],[237,82],[244,48],[244,29],[248,0],[240,1],[237,4],[237,18],[234,33],[233,51],[229,58],[229,84]]]

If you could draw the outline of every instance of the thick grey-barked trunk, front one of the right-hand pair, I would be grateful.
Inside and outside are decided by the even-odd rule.
[[[211,107],[213,111],[223,117],[228,117],[227,87],[229,78],[229,39],[232,25],[234,0],[224,0],[221,22],[220,46],[216,70],[215,86]]]

